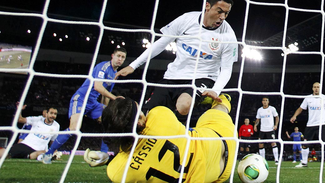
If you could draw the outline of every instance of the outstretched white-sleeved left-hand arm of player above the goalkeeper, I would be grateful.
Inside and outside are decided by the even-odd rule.
[[[150,49],[152,50],[150,59],[152,59],[153,57],[161,53],[163,50],[165,50],[166,46],[171,42],[173,42],[174,40],[175,37],[162,36],[160,39],[155,41],[150,47]],[[119,76],[127,76],[133,73],[136,68],[146,63],[148,60],[150,49],[146,49],[135,61],[130,63],[130,65],[124,67],[119,72],[117,72],[115,74],[114,79],[117,79],[117,77]]]

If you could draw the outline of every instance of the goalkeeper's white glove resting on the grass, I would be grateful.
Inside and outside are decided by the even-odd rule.
[[[108,162],[109,155],[105,152],[94,151],[87,148],[84,154],[84,160],[90,167],[103,166]]]

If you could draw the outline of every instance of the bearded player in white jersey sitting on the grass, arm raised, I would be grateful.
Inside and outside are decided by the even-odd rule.
[[[45,153],[48,144],[52,143],[58,136],[58,134],[48,133],[59,132],[60,125],[55,121],[57,114],[58,110],[53,107],[47,110],[45,118],[43,116],[23,118],[20,114],[18,122],[32,125],[31,133],[21,143],[11,147],[7,158],[36,159],[39,155]],[[5,149],[0,150],[0,157],[2,157],[4,151]]]

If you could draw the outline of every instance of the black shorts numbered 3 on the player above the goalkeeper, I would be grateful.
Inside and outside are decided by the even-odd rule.
[[[182,85],[182,84],[192,84],[190,79],[162,79],[158,82],[159,84],[168,85]],[[214,86],[214,80],[209,78],[195,79],[195,86],[202,88],[202,90],[196,91],[195,104],[197,106],[201,102],[202,92],[206,88],[212,88]],[[155,87],[147,104],[142,106],[142,111],[146,114],[147,111],[156,106],[165,106],[170,110],[175,111],[176,102],[178,97],[182,93],[188,93],[190,96],[193,95],[193,88],[183,87],[183,88],[166,88],[166,87]],[[202,98],[203,99],[203,98]]]

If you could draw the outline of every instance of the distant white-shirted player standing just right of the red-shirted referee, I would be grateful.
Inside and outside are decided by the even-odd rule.
[[[258,139],[275,139],[275,130],[278,128],[279,124],[279,114],[273,106],[269,106],[268,97],[263,97],[262,99],[263,106],[257,109],[256,121],[254,124],[254,131],[257,132],[257,125],[261,121],[261,129]],[[274,124],[275,118],[275,124]],[[277,143],[271,143],[274,155],[275,164],[279,164],[279,149]],[[265,158],[265,148],[264,143],[259,143],[259,153],[263,158]]]

